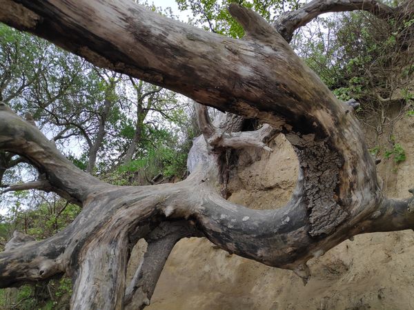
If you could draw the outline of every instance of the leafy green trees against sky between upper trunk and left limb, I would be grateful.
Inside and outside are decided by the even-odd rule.
[[[19,114],[32,114],[80,169],[86,170],[91,149],[97,149],[95,174],[122,161],[132,139],[139,141],[136,153],[145,152],[148,141],[159,140],[157,132],[169,131],[185,118],[175,93],[95,68],[6,25],[0,25],[0,63],[4,101]],[[145,136],[135,137],[138,127]]]

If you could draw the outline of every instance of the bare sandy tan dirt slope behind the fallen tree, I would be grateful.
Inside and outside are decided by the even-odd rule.
[[[413,187],[413,118],[403,118],[394,132],[406,161],[383,159],[378,170],[390,196],[406,197]],[[283,136],[273,148],[272,154],[240,155],[229,200],[255,209],[288,200],[297,175],[295,154]],[[309,266],[312,278],[304,287],[291,271],[228,255],[205,239],[181,240],[148,309],[414,309],[413,231],[356,236]]]

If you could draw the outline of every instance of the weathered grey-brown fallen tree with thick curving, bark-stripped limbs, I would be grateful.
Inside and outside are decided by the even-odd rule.
[[[56,192],[83,210],[47,240],[36,242],[16,232],[0,253],[0,287],[68,273],[74,280],[73,309],[137,309],[149,303],[181,238],[205,236],[230,253],[293,270],[306,282],[306,261],[347,238],[413,229],[414,200],[382,193],[351,105],[336,99],[286,41],[323,12],[363,9],[384,19],[412,19],[411,1],[390,8],[375,1],[327,5],[316,0],[284,14],[275,27],[255,12],[231,5],[230,14],[246,31],[238,40],[168,20],[129,1],[0,3],[0,21],[95,65],[268,124],[255,132],[235,132],[237,122],[218,128],[200,107],[204,140],[193,149],[198,154],[192,156],[195,164],[186,180],[119,187],[77,169],[36,127],[1,103],[0,149],[23,156],[41,175],[25,188]],[[285,134],[299,160],[290,202],[280,209],[253,210],[222,198],[224,152],[267,149],[266,141],[277,133]],[[141,238],[148,249],[132,282],[126,283],[130,250]]]

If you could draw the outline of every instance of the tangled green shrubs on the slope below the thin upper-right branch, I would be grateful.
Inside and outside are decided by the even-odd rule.
[[[295,37],[295,50],[338,99],[357,99],[357,116],[373,127],[392,123],[395,104],[412,105],[405,89],[414,73],[413,21],[362,12],[319,18]],[[412,113],[408,112],[408,115]],[[390,124],[392,127],[392,124]]]

